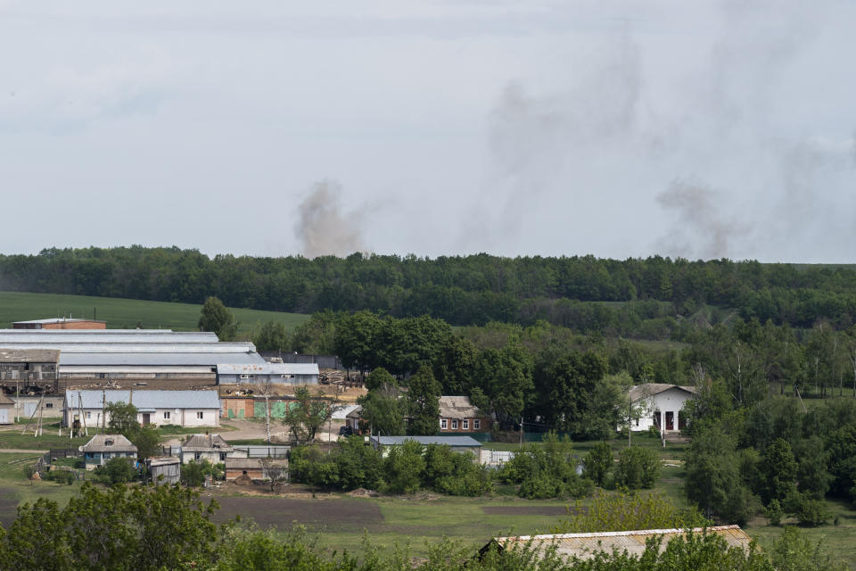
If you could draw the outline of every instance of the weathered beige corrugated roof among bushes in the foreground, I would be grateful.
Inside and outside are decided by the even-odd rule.
[[[716,525],[713,527],[696,527],[692,530],[694,534],[717,534],[720,535],[729,547],[747,549],[751,538],[739,525]],[[643,529],[629,532],[596,532],[592,534],[553,534],[553,535],[520,535],[517,537],[495,537],[479,550],[484,554],[492,547],[500,552],[513,549],[515,546],[525,545],[531,542],[532,548],[541,552],[547,548],[555,547],[556,554],[564,559],[579,558],[592,559],[597,552],[607,553],[613,550],[619,553],[627,551],[634,557],[639,557],[645,552],[648,539],[656,536],[663,537],[661,549],[675,537],[684,537],[687,532],[683,529]]]

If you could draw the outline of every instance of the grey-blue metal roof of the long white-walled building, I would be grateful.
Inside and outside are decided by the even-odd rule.
[[[137,409],[218,409],[217,391],[66,391],[66,408],[78,408],[78,395],[84,409],[100,409],[103,402],[133,402]]]

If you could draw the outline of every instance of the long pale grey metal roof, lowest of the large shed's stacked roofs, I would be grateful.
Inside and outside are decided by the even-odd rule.
[[[116,352],[116,353],[68,353],[60,354],[60,372],[65,370],[66,365],[110,367],[116,365],[133,365],[139,367],[169,367],[187,365],[205,365],[209,368],[216,367],[223,360],[236,363],[264,363],[259,353],[143,353],[143,352]]]

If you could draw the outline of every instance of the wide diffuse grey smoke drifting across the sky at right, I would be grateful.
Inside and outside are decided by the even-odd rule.
[[[776,25],[768,26],[773,5]],[[513,241],[527,211],[546,218],[561,210],[566,224],[543,226],[555,228],[566,252],[590,252],[596,239],[572,235],[589,240],[580,245],[567,237],[575,222],[624,211],[632,213],[624,233],[661,228],[650,245],[630,244],[646,253],[852,257],[856,137],[830,144],[794,128],[788,105],[800,102],[786,97],[798,83],[794,62],[811,57],[805,53],[824,21],[799,2],[719,7],[719,36],[671,85],[646,74],[657,66],[646,66],[647,52],[624,25],[586,62],[568,62],[563,92],[508,87],[490,115],[497,166],[490,195],[479,199],[495,206],[466,237]],[[611,210],[610,200],[622,208]]]

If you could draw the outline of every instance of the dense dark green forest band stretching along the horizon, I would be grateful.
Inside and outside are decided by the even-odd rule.
[[[0,289],[311,313],[372,310],[450,324],[539,319],[605,335],[669,338],[707,306],[742,318],[836,328],[856,321],[856,269],[654,256],[502,258],[488,254],[263,258],[172,248],[47,249],[0,255]],[[659,302],[659,303],[658,303]]]

